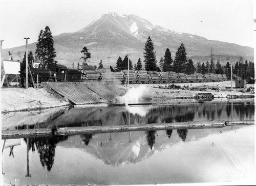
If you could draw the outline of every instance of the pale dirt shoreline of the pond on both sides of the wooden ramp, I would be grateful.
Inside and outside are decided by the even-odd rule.
[[[215,86],[221,88],[230,84],[229,82],[216,82]],[[114,85],[114,84],[113,84]],[[177,84],[179,86],[208,86],[212,87],[212,83],[187,83],[187,84]],[[104,86],[104,84],[102,85]],[[162,89],[159,88],[158,84],[144,84],[144,85],[130,85],[125,87],[123,85],[114,85],[111,89],[113,95],[116,97],[116,100],[111,102],[102,103],[104,105],[109,105],[110,103],[135,103],[135,100],[127,101],[124,98],[125,94],[136,95],[139,94],[140,100],[144,101],[156,101],[161,102],[161,100],[168,100],[175,103],[184,103],[184,102],[199,102],[198,99],[193,99],[195,95],[199,94],[208,94],[211,95],[230,95],[231,97],[237,97],[237,99],[226,99],[216,98],[217,100],[213,101],[231,101],[231,100],[241,100],[241,99],[254,99],[254,94],[241,92],[241,91],[195,91],[188,89]],[[253,86],[254,85],[248,85]],[[142,87],[142,88],[141,88]],[[244,89],[245,90],[245,89]],[[123,99],[124,98],[124,99]],[[138,102],[138,98],[136,99]],[[201,102],[206,102],[207,100],[202,99]],[[212,102],[212,100],[211,100]],[[74,105],[74,107],[98,107],[101,104],[84,104],[84,105]],[[10,113],[10,112],[23,112],[23,111],[35,111],[35,110],[44,110],[56,107],[72,107],[73,104],[67,100],[67,98],[62,97],[57,94],[50,88],[1,88],[1,113]]]

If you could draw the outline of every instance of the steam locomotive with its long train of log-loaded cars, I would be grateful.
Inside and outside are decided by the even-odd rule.
[[[86,82],[97,81],[119,81],[122,84],[170,84],[170,83],[201,83],[227,81],[226,75],[221,74],[185,74],[176,72],[156,72],[146,70],[122,70],[111,72],[110,69],[69,69],[58,64],[42,65],[31,68],[34,80],[39,77],[39,82]]]

